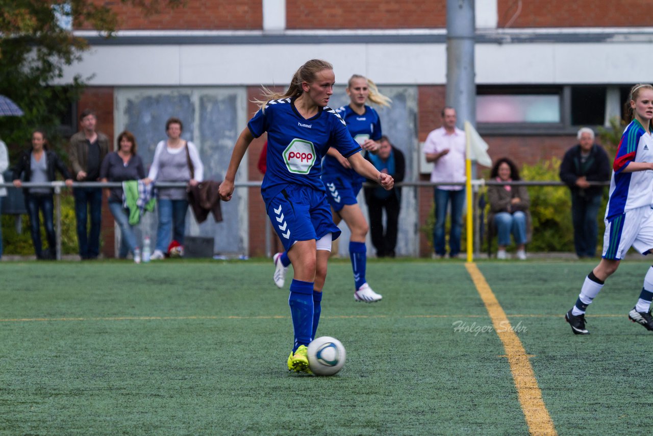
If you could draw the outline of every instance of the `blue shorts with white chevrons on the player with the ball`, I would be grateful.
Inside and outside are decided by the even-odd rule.
[[[308,186],[286,186],[272,197],[267,211],[286,251],[295,241],[317,240],[327,233],[336,239],[341,233],[333,223],[327,195]]]

